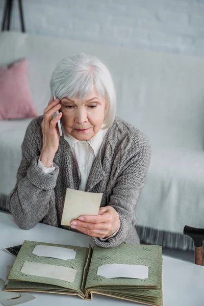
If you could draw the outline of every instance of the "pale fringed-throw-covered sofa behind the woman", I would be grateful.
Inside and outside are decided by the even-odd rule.
[[[43,114],[59,60],[81,52],[109,67],[117,116],[144,132],[151,160],[137,206],[142,243],[193,250],[184,226],[204,227],[204,59],[18,32],[0,34],[0,65],[28,60],[33,104]],[[32,118],[0,121],[0,209],[16,182]]]

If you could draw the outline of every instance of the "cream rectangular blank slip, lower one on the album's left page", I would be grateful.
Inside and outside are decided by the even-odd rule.
[[[61,279],[61,281],[74,282],[77,270],[68,267],[26,261],[24,262],[20,272],[28,275],[49,277]]]

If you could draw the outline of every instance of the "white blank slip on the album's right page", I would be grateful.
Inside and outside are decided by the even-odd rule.
[[[98,267],[97,275],[106,278],[148,278],[148,267],[143,265],[107,264]]]

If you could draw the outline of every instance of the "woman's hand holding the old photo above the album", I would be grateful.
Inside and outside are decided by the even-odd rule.
[[[71,227],[93,237],[107,238],[120,226],[119,215],[111,206],[100,207],[97,216],[80,216],[71,221]]]

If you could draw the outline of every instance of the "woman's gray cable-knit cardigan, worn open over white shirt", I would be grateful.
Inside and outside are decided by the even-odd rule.
[[[46,174],[38,167],[43,144],[42,120],[43,116],[33,119],[25,132],[17,181],[9,196],[9,210],[24,230],[42,222],[78,232],[60,223],[66,188],[79,188],[80,169],[64,137],[60,137],[53,161],[54,172]],[[122,242],[140,243],[134,226],[135,207],[144,186],[150,155],[150,143],[144,133],[116,117],[94,160],[85,191],[103,193],[101,207],[111,205],[121,225],[116,236],[107,241],[93,237],[95,244],[115,247]]]

